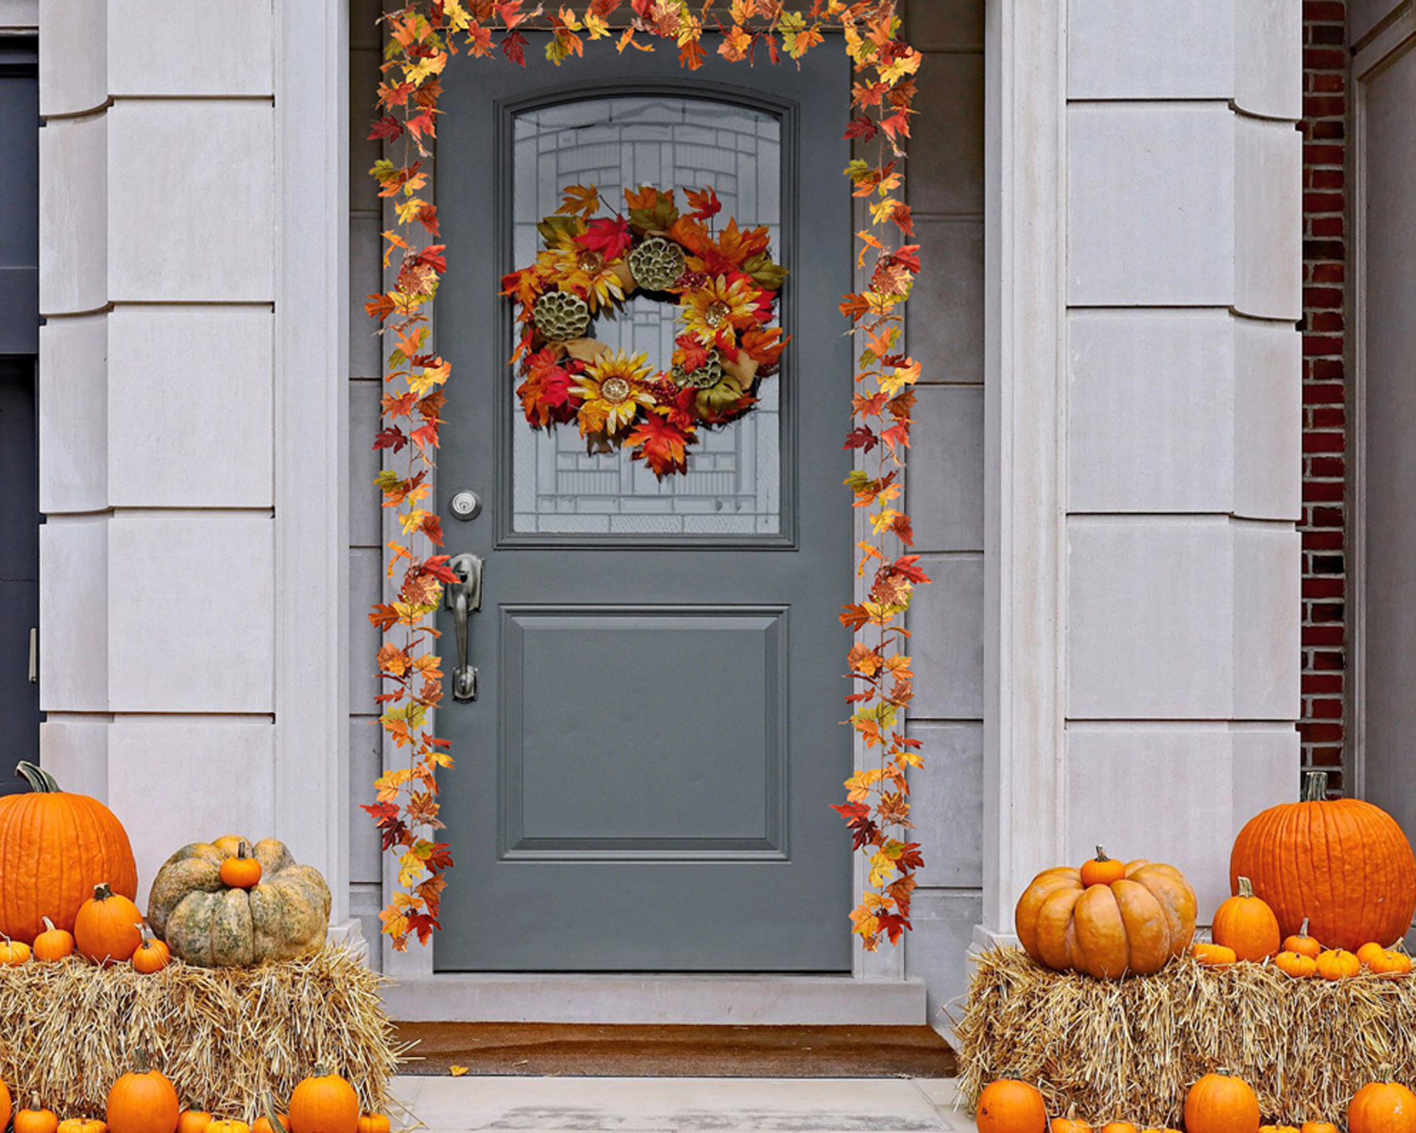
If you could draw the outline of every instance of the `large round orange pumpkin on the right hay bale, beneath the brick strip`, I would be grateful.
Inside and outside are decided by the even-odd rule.
[[[1303,802],[1272,806],[1245,824],[1229,855],[1231,892],[1247,877],[1284,935],[1307,916],[1327,947],[1388,947],[1416,912],[1416,855],[1385,810],[1325,795],[1327,772],[1308,772]]]

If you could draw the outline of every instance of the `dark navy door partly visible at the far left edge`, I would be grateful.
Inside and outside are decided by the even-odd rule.
[[[31,630],[40,625],[40,473],[34,355],[40,350],[40,95],[31,40],[0,41],[0,795],[40,752]]]

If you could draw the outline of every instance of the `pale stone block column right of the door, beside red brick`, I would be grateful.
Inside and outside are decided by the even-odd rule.
[[[990,10],[984,925],[1296,797],[1301,13]]]

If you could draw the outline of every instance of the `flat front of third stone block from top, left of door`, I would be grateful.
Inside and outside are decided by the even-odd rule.
[[[270,507],[270,334],[263,307],[109,314],[109,501]]]

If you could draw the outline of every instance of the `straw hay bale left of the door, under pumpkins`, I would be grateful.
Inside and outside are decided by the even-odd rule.
[[[384,1015],[384,983],[333,945],[248,969],[173,960],[152,976],[74,956],[0,967],[0,1081],[17,1106],[102,1117],[140,1045],[190,1109],[253,1120],[268,1089],[283,1100],[326,1061],[364,1109],[387,1112],[408,1048]]]

